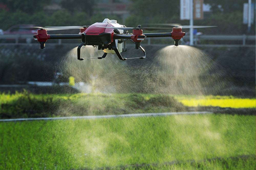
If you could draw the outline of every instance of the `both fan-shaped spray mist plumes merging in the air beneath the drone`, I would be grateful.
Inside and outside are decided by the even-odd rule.
[[[92,46],[81,48],[82,58],[102,55],[101,50]],[[214,60],[195,47],[167,46],[158,50],[153,60],[139,61],[131,64],[115,54],[79,61],[77,48],[73,48],[63,58],[60,69],[66,77],[73,76],[76,82],[85,83],[80,86],[81,92],[201,95],[209,92],[209,86],[211,91],[220,88],[216,83],[219,73],[211,72]],[[86,85],[91,90],[84,90]]]

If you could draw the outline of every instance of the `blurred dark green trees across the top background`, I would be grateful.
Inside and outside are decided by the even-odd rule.
[[[194,25],[217,25],[218,29],[198,30],[204,34],[248,34],[243,24],[243,3],[247,0],[204,0],[211,5],[211,12],[203,20],[195,20]],[[254,3],[255,1],[253,1]],[[106,4],[105,11],[99,4]],[[48,9],[53,4],[58,9]],[[113,13],[125,4],[129,15],[123,17]],[[108,6],[109,5],[109,6]],[[116,10],[116,9],[114,9]],[[120,10],[120,9],[119,9]],[[109,12],[109,13],[106,13]],[[104,18],[118,20],[120,24],[136,27],[152,23],[180,23],[189,25],[188,20],[180,20],[180,1],[176,0],[0,0],[0,28],[3,30],[16,24],[35,24],[38,26],[90,25]],[[252,24],[250,34],[255,34]]]

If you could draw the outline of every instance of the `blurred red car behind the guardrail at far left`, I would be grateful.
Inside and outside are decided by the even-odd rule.
[[[4,35],[31,34],[31,38],[26,38],[26,39],[19,38],[18,39],[19,42],[31,43],[31,41],[33,40],[32,35],[37,33],[37,29],[29,28],[29,27],[33,27],[33,26],[35,26],[35,25],[32,25],[32,24],[14,25],[14,26],[10,27],[9,29],[7,29],[6,31],[4,31],[3,34]],[[13,41],[15,41],[15,39],[6,39],[6,41],[13,42]]]

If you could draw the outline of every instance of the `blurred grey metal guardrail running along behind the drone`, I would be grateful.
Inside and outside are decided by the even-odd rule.
[[[158,37],[158,38],[146,38],[147,44],[151,44],[151,40],[156,39],[166,39],[166,37]],[[255,42],[255,35],[198,35],[194,36],[195,45],[197,45],[197,42],[200,40],[212,40],[212,41],[241,41],[241,46],[246,46],[247,41],[254,41]],[[13,35],[0,35],[0,43],[8,43],[8,40],[15,40],[15,43],[12,44],[24,44],[25,43],[30,44],[32,41],[35,41],[33,38],[33,35],[30,34],[13,34]],[[23,40],[23,41],[21,41]],[[189,40],[189,36],[184,36],[183,40]],[[58,40],[56,44],[64,44],[62,40]],[[227,44],[225,44],[227,45]],[[229,44],[232,45],[232,44]],[[237,45],[237,44],[236,44]]]

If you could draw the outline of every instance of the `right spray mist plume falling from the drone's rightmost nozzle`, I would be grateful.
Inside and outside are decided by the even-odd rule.
[[[220,73],[211,72],[214,60],[195,47],[167,46],[157,52],[156,61],[158,93],[201,95],[219,88]]]

